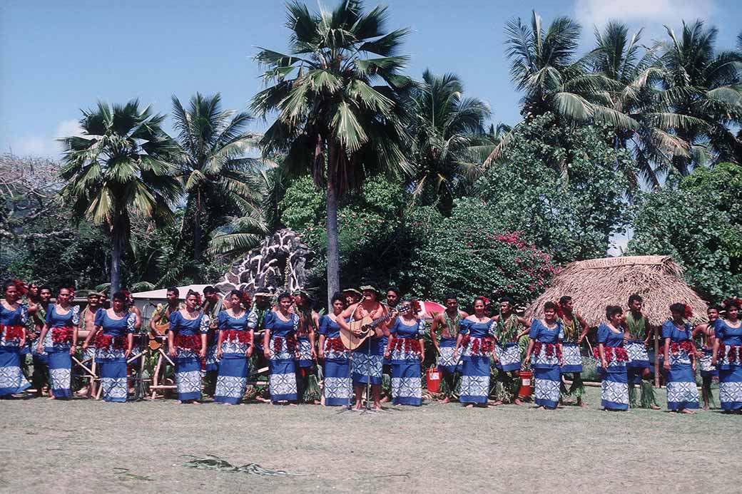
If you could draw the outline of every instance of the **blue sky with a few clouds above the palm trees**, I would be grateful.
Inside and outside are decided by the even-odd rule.
[[[335,1],[324,1],[332,7]],[[376,1],[367,1],[375,5]],[[583,26],[621,19],[663,36],[663,24],[705,19],[731,48],[742,25],[742,2],[723,0],[576,0],[531,2],[389,0],[390,28],[410,27],[410,75],[426,67],[457,73],[466,91],[487,101],[493,121],[518,121],[519,94],[508,77],[504,25],[535,9],[548,23],[572,16]],[[317,1],[307,1],[310,8]],[[243,109],[260,90],[256,46],[284,50],[283,1],[0,2],[0,152],[59,157],[57,136],[78,131],[80,108],[98,99],[138,97],[160,113],[171,95],[220,92],[226,108]],[[259,130],[264,126],[257,122]]]

